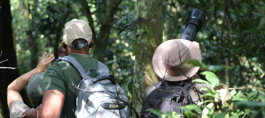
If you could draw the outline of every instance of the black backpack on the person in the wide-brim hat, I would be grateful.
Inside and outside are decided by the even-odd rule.
[[[140,114],[140,117],[142,118],[161,117],[155,115],[152,112],[150,113],[150,111],[146,111],[148,108],[158,109],[164,114],[166,113],[166,111],[175,111],[183,115],[183,111],[180,107],[193,103],[192,101],[190,101],[192,99],[188,91],[191,87],[190,82],[167,82],[165,84],[164,82],[160,81],[154,85],[157,88],[154,89],[144,100]],[[172,91],[174,93],[167,91]]]

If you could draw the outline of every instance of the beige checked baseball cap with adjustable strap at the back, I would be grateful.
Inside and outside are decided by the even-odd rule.
[[[72,42],[78,38],[87,41],[85,44],[73,45]],[[63,40],[66,45],[74,48],[83,48],[90,44],[92,40],[92,31],[85,20],[73,19],[65,24]]]

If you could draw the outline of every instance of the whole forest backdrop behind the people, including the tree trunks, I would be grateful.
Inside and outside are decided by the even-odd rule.
[[[218,115],[265,117],[264,0],[0,0],[0,67],[22,67],[0,69],[1,117],[9,117],[7,86],[35,68],[45,51],[58,58],[64,25],[74,18],[89,22],[91,56],[108,66],[139,113],[148,80],[159,81],[151,62],[156,47],[181,36],[194,8],[206,16],[196,37],[202,63],[232,91]],[[25,90],[21,95],[32,106]]]

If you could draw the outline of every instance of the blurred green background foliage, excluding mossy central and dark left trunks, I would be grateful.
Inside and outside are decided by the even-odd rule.
[[[11,0],[17,63],[19,67],[24,66],[19,69],[20,75],[35,68],[44,51],[52,52],[58,58],[64,24],[74,18],[83,19],[89,22],[94,33],[91,55],[112,70],[131,98],[135,84],[132,78],[137,67],[135,54],[141,51],[138,45],[143,42],[139,36],[149,33],[137,29],[136,2]],[[164,23],[155,25],[163,25],[162,41],[179,38],[189,11],[198,8],[206,15],[196,38],[200,43],[202,62],[231,66],[232,69],[215,72],[230,87],[265,88],[264,0],[163,0],[159,6],[163,6],[160,17]]]

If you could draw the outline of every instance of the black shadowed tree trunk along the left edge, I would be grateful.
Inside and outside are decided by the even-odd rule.
[[[10,11],[10,1],[0,1],[0,51],[2,55],[0,67],[17,67],[16,51],[14,47],[13,29],[12,29],[12,16]],[[2,104],[1,114],[3,117],[9,117],[9,110],[7,106],[7,86],[19,77],[18,69],[0,69],[0,102]],[[25,90],[21,91],[24,102],[28,104],[27,94]]]

